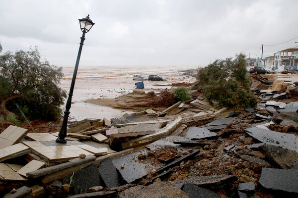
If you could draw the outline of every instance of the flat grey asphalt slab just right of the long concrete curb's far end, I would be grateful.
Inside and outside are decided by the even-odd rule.
[[[188,130],[185,133],[185,138],[191,140],[214,139],[216,137],[217,133],[210,132],[205,127],[188,127]]]

